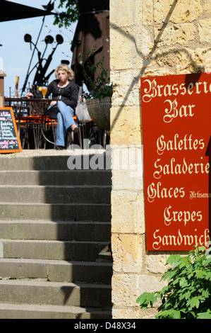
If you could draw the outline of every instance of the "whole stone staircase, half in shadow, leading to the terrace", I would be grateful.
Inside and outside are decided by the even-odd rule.
[[[0,318],[111,318],[111,171],[0,156]]]

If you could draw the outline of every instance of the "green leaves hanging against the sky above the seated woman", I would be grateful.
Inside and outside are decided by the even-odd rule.
[[[71,23],[78,21],[79,18],[79,9],[78,9],[78,0],[60,0],[59,8],[65,7],[64,11],[56,14],[54,25],[59,25],[59,28],[62,26],[68,27],[71,26]]]

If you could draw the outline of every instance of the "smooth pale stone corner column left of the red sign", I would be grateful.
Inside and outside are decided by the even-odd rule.
[[[110,1],[111,247],[113,318],[138,317],[135,305],[143,268],[144,203],[140,113],[140,64],[135,21],[142,1]]]

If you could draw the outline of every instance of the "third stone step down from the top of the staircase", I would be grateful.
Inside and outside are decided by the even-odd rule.
[[[110,186],[1,185],[1,203],[110,203]]]

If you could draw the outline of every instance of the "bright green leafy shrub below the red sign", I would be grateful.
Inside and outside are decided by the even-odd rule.
[[[196,247],[187,256],[172,254],[171,268],[162,276],[168,285],[155,293],[143,293],[137,299],[142,309],[157,300],[157,319],[211,319],[211,256],[205,247]]]

